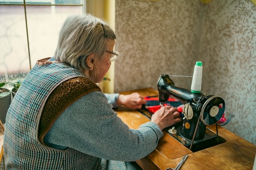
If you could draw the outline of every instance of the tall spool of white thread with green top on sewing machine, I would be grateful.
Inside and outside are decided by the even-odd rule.
[[[202,71],[203,66],[201,61],[195,62],[193,78],[191,83],[191,92],[192,93],[200,93],[201,85],[202,85]]]

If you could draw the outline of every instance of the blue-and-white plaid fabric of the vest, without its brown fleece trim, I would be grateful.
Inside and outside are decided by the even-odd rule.
[[[47,98],[61,83],[75,77],[81,78],[85,75],[63,63],[36,64],[26,76],[7,113],[4,131],[4,161],[7,169],[89,170],[106,168],[107,162],[104,159],[72,148],[66,150],[50,148],[38,139],[40,117]]]

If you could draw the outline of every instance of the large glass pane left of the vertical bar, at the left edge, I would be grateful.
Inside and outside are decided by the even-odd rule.
[[[0,82],[8,82],[30,69],[24,7],[0,5],[0,16]]]

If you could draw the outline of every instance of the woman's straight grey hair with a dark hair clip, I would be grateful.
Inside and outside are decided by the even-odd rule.
[[[70,15],[59,33],[54,59],[85,71],[87,57],[93,53],[102,57],[108,38],[116,39],[116,35],[106,21],[91,14]]]

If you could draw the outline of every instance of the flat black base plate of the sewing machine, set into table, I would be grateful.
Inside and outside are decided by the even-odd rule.
[[[153,113],[150,113],[147,109],[143,109],[143,108],[139,109],[138,111],[140,113],[142,113],[143,115],[145,115],[149,119],[151,119],[151,116],[153,114]],[[181,124],[182,124],[182,122],[174,125],[175,126],[175,130],[177,131],[176,134],[172,134],[172,133],[168,132],[168,130],[172,129],[173,126],[165,128],[164,131],[166,133],[168,133],[169,135],[171,135],[172,137],[174,137],[177,141],[182,143],[184,146],[186,146],[186,148],[190,148],[192,141],[189,140],[189,139],[185,139],[184,137],[182,137],[182,135],[180,135]],[[215,125],[213,125],[213,126],[215,126]],[[205,135],[204,135],[204,139],[202,139],[202,140],[195,140],[193,142],[191,151],[192,152],[197,152],[199,150],[210,148],[212,146],[216,146],[216,145],[222,144],[224,142],[226,142],[226,140],[224,138],[222,138],[220,136],[217,136],[215,133],[213,133],[209,129],[206,129],[206,132],[205,132]]]

